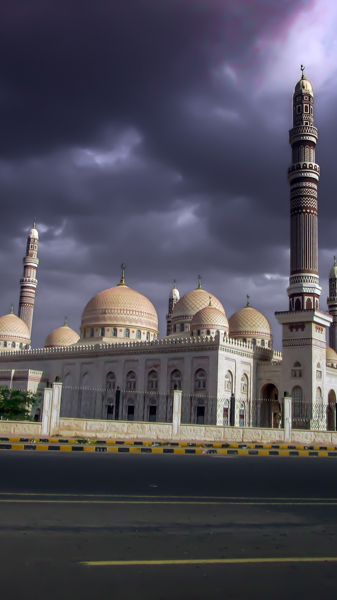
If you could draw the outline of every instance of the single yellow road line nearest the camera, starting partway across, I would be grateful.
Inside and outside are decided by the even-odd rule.
[[[337,562],[337,557],[282,557],[255,559],[176,559],[176,560],[83,560],[82,565],[88,566],[127,566],[127,565],[216,565],[234,563],[279,563],[279,562]]]

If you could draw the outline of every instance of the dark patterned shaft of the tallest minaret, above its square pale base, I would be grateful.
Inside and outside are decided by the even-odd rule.
[[[319,308],[317,184],[320,167],[315,160],[314,92],[303,75],[293,95],[293,128],[289,131],[292,164],[290,183],[289,310]]]

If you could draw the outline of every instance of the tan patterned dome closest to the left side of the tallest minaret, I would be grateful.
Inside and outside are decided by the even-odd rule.
[[[272,339],[272,330],[270,323],[264,314],[260,313],[251,306],[241,308],[228,319],[229,332],[231,337],[236,335],[254,335]]]

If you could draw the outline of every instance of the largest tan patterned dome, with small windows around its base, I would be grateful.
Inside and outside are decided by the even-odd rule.
[[[90,325],[128,325],[153,329],[158,316],[152,302],[125,284],[98,293],[85,307],[81,329]]]

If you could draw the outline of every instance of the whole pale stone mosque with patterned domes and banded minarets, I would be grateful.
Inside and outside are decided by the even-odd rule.
[[[330,415],[326,428],[336,430],[337,266],[335,259],[326,313],[320,310],[318,278],[317,135],[314,91],[302,68],[289,131],[289,304],[287,311],[275,313],[282,326],[282,353],[273,349],[270,323],[250,305],[249,296],[246,306],[227,319],[219,299],[203,289],[201,277],[182,298],[174,281],[166,335],[158,337],[155,307],[128,286],[124,265],[121,281],[86,304],[79,332],[66,321],[47,335],[44,348],[32,348],[38,268],[34,223],[23,259],[19,314],[12,308],[0,318],[1,385],[35,391],[62,382],[64,390],[77,392],[63,394],[61,416],[87,419],[158,420],[156,394],[169,395],[173,389],[191,398],[191,422],[206,422],[207,398],[229,402],[234,397],[243,405],[264,398],[270,401],[269,427],[275,426],[279,398],[288,393],[293,401],[321,406],[322,414]],[[94,401],[83,389],[103,393],[95,394]],[[136,392],[148,394],[141,413]]]

